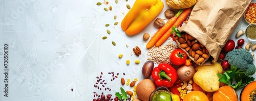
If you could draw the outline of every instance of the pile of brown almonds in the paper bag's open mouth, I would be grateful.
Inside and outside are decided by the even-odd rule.
[[[182,32],[181,38],[175,36],[175,40],[180,43],[180,47],[184,48],[189,56],[194,58],[196,63],[202,63],[209,58],[208,50],[198,40],[186,32]]]

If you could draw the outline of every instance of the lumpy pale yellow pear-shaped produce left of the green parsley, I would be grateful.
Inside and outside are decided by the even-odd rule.
[[[216,62],[211,65],[199,65],[196,67],[196,73],[193,77],[194,82],[207,92],[219,90],[218,73],[222,73],[222,66]]]

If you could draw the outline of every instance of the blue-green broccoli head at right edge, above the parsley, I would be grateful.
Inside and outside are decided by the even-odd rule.
[[[246,76],[255,73],[255,65],[253,64],[253,56],[245,49],[234,49],[227,53],[228,63],[242,70]]]

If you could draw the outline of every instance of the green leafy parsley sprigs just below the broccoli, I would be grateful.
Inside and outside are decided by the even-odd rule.
[[[241,72],[233,65],[230,66],[230,70],[224,74],[217,74],[219,81],[231,86],[234,90],[245,87],[250,82],[254,81],[253,77],[246,76],[244,72]]]

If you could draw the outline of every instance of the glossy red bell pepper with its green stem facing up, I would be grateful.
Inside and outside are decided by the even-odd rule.
[[[152,72],[152,78],[158,87],[172,87],[178,79],[177,71],[167,63],[160,63]]]

